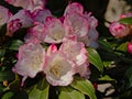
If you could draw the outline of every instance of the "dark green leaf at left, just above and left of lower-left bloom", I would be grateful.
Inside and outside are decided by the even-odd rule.
[[[20,40],[13,40],[10,42],[10,46],[9,46],[9,50],[12,50],[12,51],[18,51],[19,47],[23,44],[22,41]]]

